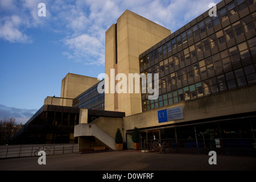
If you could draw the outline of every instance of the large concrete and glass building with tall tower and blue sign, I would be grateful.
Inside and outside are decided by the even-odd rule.
[[[131,134],[138,127],[145,150],[160,140],[169,152],[255,155],[256,3],[221,1],[216,15],[205,11],[171,34],[126,10],[106,31],[105,80],[76,75],[71,81],[68,74],[61,97],[44,104],[80,108],[73,131],[80,151],[115,150],[117,128],[125,147],[133,148]],[[129,81],[116,78],[119,73],[159,79],[129,93]],[[104,96],[96,92],[102,83]],[[127,93],[118,93],[120,83]],[[154,100],[148,90],[141,92],[156,86]]]

